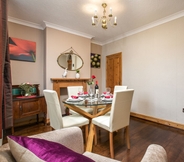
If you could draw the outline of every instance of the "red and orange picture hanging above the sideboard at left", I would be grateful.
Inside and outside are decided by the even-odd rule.
[[[9,37],[10,60],[36,61],[36,42]]]

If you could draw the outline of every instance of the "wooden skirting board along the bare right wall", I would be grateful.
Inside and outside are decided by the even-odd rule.
[[[175,122],[168,121],[168,120],[163,120],[163,119],[158,119],[158,118],[154,118],[154,117],[151,117],[151,116],[146,116],[146,115],[142,115],[142,114],[138,114],[138,113],[134,113],[134,112],[131,112],[130,115],[133,116],[133,117],[140,118],[140,119],[144,119],[144,120],[148,120],[148,121],[152,121],[152,122],[155,122],[155,123],[159,123],[159,124],[163,124],[163,125],[167,125],[167,126],[170,126],[170,127],[174,127],[174,128],[184,130],[184,124],[175,123]]]

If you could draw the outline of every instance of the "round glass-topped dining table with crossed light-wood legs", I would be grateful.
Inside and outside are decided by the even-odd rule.
[[[93,148],[93,140],[95,135],[94,125],[92,124],[91,120],[95,117],[101,116],[106,114],[111,109],[112,100],[104,101],[101,98],[93,99],[83,99],[80,101],[68,101],[67,99],[63,100],[64,106],[81,114],[82,116],[88,118],[90,120],[90,129],[88,140],[86,144],[86,151],[92,152]],[[91,107],[93,108],[93,114],[89,114],[84,110],[80,109],[79,106],[83,107]]]

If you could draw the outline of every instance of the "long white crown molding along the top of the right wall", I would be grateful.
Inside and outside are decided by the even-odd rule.
[[[184,10],[182,10],[182,11],[180,11],[180,12],[177,12],[177,13],[175,13],[175,14],[172,14],[172,15],[170,15],[170,16],[167,16],[167,17],[165,17],[165,18],[163,18],[163,19],[154,21],[154,22],[152,22],[152,23],[150,23],[150,24],[144,25],[144,26],[142,26],[142,27],[140,27],[140,28],[137,28],[137,29],[135,29],[135,30],[132,30],[132,31],[130,31],[130,32],[124,33],[124,34],[122,34],[122,35],[120,35],[120,36],[118,36],[118,37],[115,37],[115,38],[113,38],[113,39],[107,40],[107,41],[103,42],[102,45],[105,45],[105,44],[108,44],[108,43],[112,43],[112,42],[114,42],[114,41],[118,41],[118,40],[123,39],[123,38],[125,38],[125,37],[128,37],[128,36],[131,36],[131,35],[140,33],[140,32],[142,32],[142,31],[145,31],[145,30],[151,29],[151,28],[153,28],[153,27],[162,25],[162,24],[164,24],[164,23],[167,23],[167,22],[170,22],[170,21],[172,21],[172,20],[181,18],[181,17],[183,17],[183,16],[184,16]]]

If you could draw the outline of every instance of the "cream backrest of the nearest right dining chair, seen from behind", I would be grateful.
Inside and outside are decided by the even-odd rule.
[[[129,125],[133,89],[115,91],[110,113],[110,131]]]

